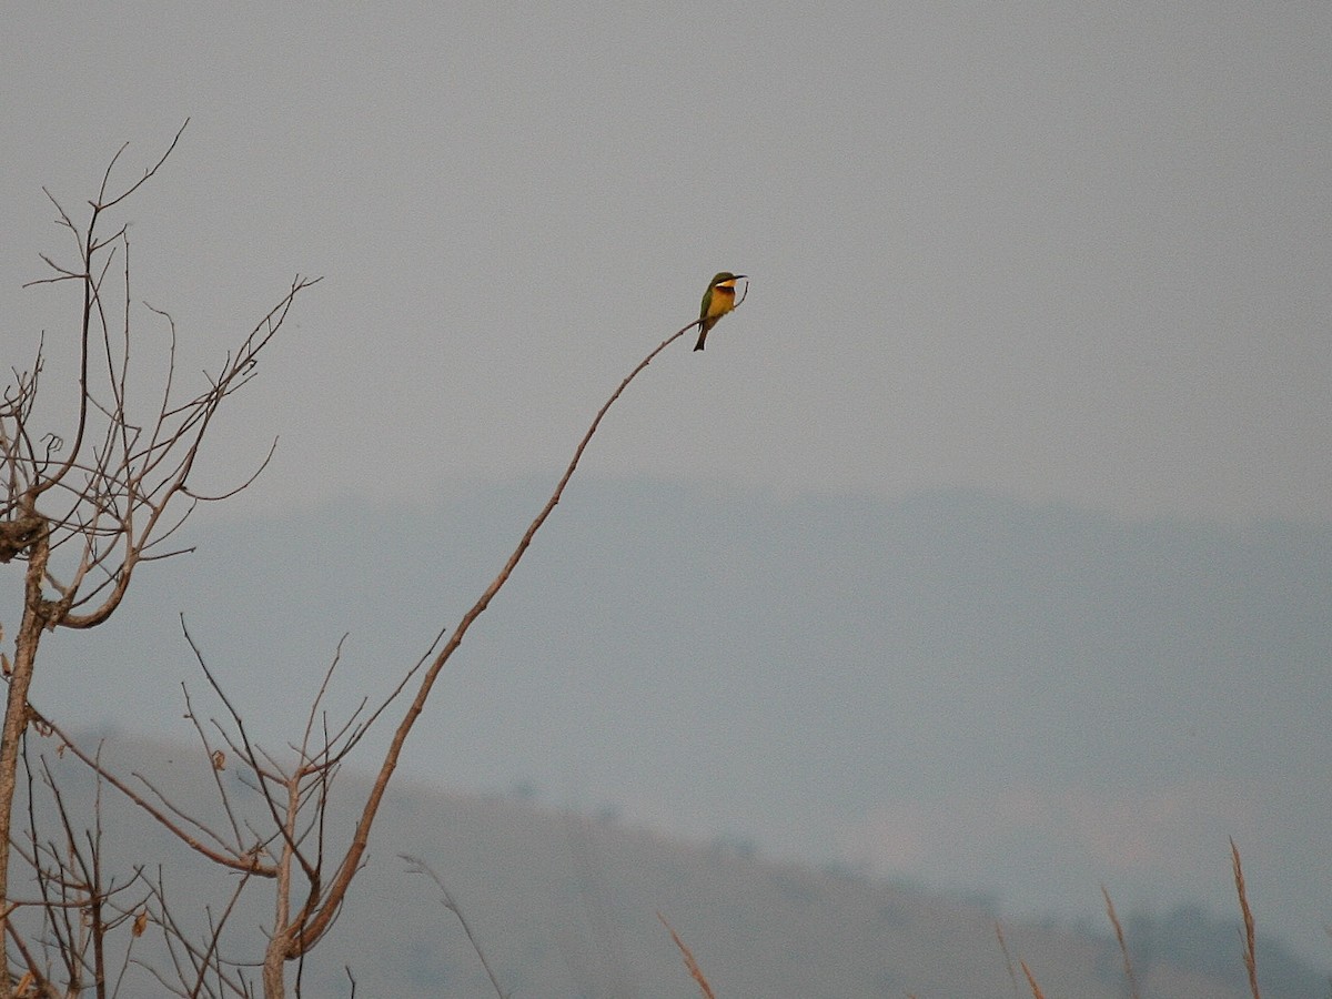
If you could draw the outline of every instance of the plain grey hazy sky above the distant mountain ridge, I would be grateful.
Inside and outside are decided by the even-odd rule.
[[[11,9],[0,360],[72,314],[19,288],[41,186],[188,116],[124,218],[194,368],[326,277],[236,410],[229,460],[282,437],[249,501],[554,472],[726,268],[590,469],[1332,517],[1327,4],[575,7]]]

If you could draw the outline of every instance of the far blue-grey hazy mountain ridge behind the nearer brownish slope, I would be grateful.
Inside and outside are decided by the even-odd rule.
[[[201,526],[113,623],[52,639],[35,702],[184,738],[182,611],[282,745],[344,633],[334,717],[456,623],[545,489]],[[1233,836],[1260,926],[1325,964],[1329,606],[1325,525],[575,481],[405,766],[1012,916],[1100,919],[1104,883],[1228,918]]]

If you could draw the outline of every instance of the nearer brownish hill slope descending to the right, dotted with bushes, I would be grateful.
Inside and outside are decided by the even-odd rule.
[[[53,745],[41,745],[71,810],[91,814],[91,782],[68,755],[57,759]],[[216,814],[208,765],[197,750],[112,737],[104,754],[124,773],[152,779],[184,810]],[[244,802],[242,775],[229,769],[225,779]],[[366,782],[353,774],[338,787],[336,814],[345,817]],[[101,819],[109,863],[164,864],[178,919],[198,926],[205,907],[213,918],[222,911],[234,876],[201,871],[197,859],[141,823],[109,790]],[[330,829],[333,840],[345,839],[337,822]],[[350,971],[358,996],[493,995],[440,891],[426,876],[410,874],[398,854],[425,860],[442,878],[515,999],[697,995],[657,912],[690,946],[718,996],[1010,999],[1015,994],[995,916],[986,907],[745,852],[735,844],[683,843],[606,817],[401,786],[389,795],[370,863],[344,915],[306,966],[305,994],[349,995]],[[232,916],[238,936],[226,952],[256,946],[256,927],[269,918],[266,891],[256,886]],[[1002,928],[1012,962],[1024,960],[1047,995],[1127,995],[1108,927],[1090,932],[1004,920]],[[1151,939],[1135,939],[1143,928],[1130,927],[1143,995],[1247,995],[1233,927],[1181,914],[1155,927],[1159,932]],[[1217,935],[1211,952],[1228,952],[1229,960],[1212,966],[1199,959],[1189,938],[1200,930]],[[152,959],[144,946],[152,948],[152,932],[139,951],[140,959]],[[159,950],[156,960],[161,958]],[[1320,995],[1325,986],[1265,942],[1260,960],[1268,999]],[[129,994],[165,994],[143,972],[131,974]],[[1016,994],[1030,991],[1023,983]]]

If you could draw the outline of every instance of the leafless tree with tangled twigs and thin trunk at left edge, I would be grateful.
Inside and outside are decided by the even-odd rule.
[[[252,476],[210,496],[192,488],[189,476],[222,404],[253,377],[260,353],[282,326],[296,297],[314,284],[297,277],[193,394],[182,394],[176,382],[174,321],[145,306],[169,334],[169,349],[159,388],[148,400],[137,397],[132,364],[143,348],[133,328],[141,312],[131,293],[131,241],[124,224],[107,232],[113,225],[108,218],[161,169],[181,132],[141,177],[116,188],[113,174],[123,147],[108,164],[81,226],[47,192],[57,224],[76,249],[73,262],[43,254],[51,273],[32,284],[77,289],[80,321],[71,337],[77,341],[75,404],[56,426],[39,426],[40,390],[45,388],[41,346],[28,370],[13,369],[13,382],[0,402],[5,489],[0,562],[27,563],[13,659],[5,657],[3,663],[8,690],[0,737],[0,939],[13,943],[20,955],[21,942],[11,922],[16,903],[9,892],[9,850],[20,747],[33,719],[28,691],[41,637],[57,627],[88,629],[107,621],[141,563],[182,551],[168,542],[198,503],[225,500],[253,481]],[[19,963],[43,978],[24,958]],[[0,999],[13,995],[13,988],[9,976],[0,975]]]

